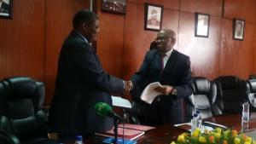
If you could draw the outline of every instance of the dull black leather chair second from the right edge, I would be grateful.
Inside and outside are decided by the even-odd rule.
[[[217,106],[226,114],[241,113],[242,103],[247,97],[247,83],[236,76],[214,79],[217,85]]]

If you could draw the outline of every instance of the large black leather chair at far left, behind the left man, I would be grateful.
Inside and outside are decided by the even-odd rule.
[[[6,78],[0,82],[0,128],[17,136],[20,143],[49,144],[44,103],[44,84],[32,78]]]

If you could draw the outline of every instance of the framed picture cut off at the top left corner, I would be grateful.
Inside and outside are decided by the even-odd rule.
[[[12,19],[13,0],[0,0],[0,18]]]

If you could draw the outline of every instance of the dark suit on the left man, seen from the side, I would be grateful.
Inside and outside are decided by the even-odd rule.
[[[64,42],[59,57],[55,95],[49,110],[53,132],[93,133],[113,128],[112,118],[96,113],[95,105],[112,106],[109,92],[121,93],[123,81],[104,72],[94,49],[77,32]]]

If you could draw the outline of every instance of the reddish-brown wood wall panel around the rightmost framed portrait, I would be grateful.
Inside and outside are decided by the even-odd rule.
[[[232,20],[223,20],[220,75],[248,78],[253,72],[254,26],[247,23],[244,41],[233,40]]]

